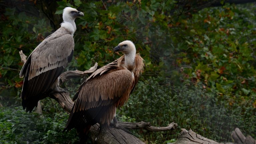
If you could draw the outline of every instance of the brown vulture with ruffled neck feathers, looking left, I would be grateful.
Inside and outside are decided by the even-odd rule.
[[[128,100],[143,72],[143,59],[133,42],[123,41],[114,51],[124,55],[92,73],[73,98],[76,101],[64,131],[76,128],[80,143],[92,125],[108,126],[112,119],[117,123],[116,108]]]

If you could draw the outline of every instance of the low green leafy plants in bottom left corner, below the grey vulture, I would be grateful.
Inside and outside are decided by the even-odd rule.
[[[0,143],[3,144],[45,144],[77,143],[75,130],[62,132],[68,114],[66,112],[26,113],[21,106],[0,108]]]

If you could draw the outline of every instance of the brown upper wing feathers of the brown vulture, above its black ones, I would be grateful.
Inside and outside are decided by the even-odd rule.
[[[128,98],[121,99],[121,97],[129,97],[133,83],[132,73],[127,69],[116,70],[89,79],[76,94],[78,97],[74,104],[74,111],[105,106],[114,102],[116,107],[123,105]]]

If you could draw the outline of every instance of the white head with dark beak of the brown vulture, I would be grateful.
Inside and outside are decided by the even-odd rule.
[[[135,55],[136,54],[135,45],[133,44],[132,41],[129,41],[129,40],[119,43],[118,46],[116,46],[114,48],[114,52],[117,52],[117,51],[120,51],[120,52],[124,53],[125,55],[127,55],[127,54]]]

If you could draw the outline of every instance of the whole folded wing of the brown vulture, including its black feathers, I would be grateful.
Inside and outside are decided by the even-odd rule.
[[[131,72],[127,69],[110,71],[88,78],[81,85],[64,130],[95,123],[109,124],[115,108],[128,100],[134,81]],[[79,128],[77,130],[79,132]]]

